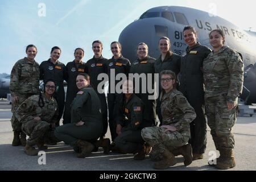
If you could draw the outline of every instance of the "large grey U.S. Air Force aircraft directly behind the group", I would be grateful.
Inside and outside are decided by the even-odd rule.
[[[138,43],[144,42],[148,45],[148,55],[158,58],[158,42],[162,36],[167,36],[171,40],[173,52],[182,55],[187,47],[182,31],[187,25],[195,27],[198,41],[210,48],[209,32],[214,29],[225,32],[225,44],[240,52],[245,64],[241,98],[246,104],[256,103],[256,32],[243,31],[219,16],[188,7],[154,7],[144,12],[139,19],[130,23],[121,32],[119,42],[122,44],[122,55],[133,62],[137,59]]]

